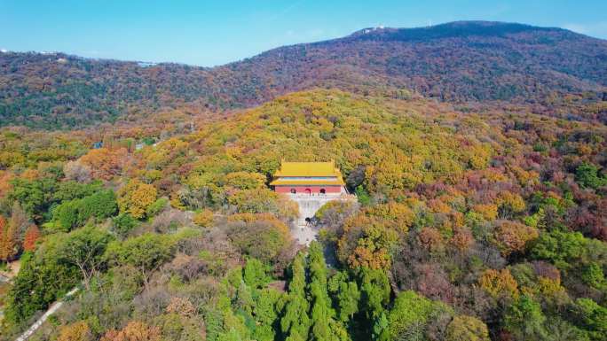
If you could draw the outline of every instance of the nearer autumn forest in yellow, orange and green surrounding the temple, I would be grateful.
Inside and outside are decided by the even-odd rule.
[[[604,340],[607,128],[458,108],[313,89],[99,149],[4,128],[0,339],[78,285],[34,340]],[[308,248],[280,159],[358,196]]]

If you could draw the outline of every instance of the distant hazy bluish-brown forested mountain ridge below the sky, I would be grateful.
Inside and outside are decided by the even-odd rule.
[[[259,105],[301,89],[451,102],[508,101],[550,115],[607,120],[607,42],[560,28],[454,22],[369,28],[214,68],[0,53],[0,125],[83,127],[190,105]],[[565,94],[577,94],[571,105]],[[589,107],[586,107],[589,105]]]

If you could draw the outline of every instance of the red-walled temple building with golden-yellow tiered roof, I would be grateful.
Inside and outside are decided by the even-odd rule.
[[[342,173],[330,162],[285,162],[270,182],[279,193],[309,196],[335,196],[347,194]]]

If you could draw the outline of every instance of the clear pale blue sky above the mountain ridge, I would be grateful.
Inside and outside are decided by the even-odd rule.
[[[0,49],[216,66],[363,27],[485,19],[607,39],[607,0],[0,0]]]

